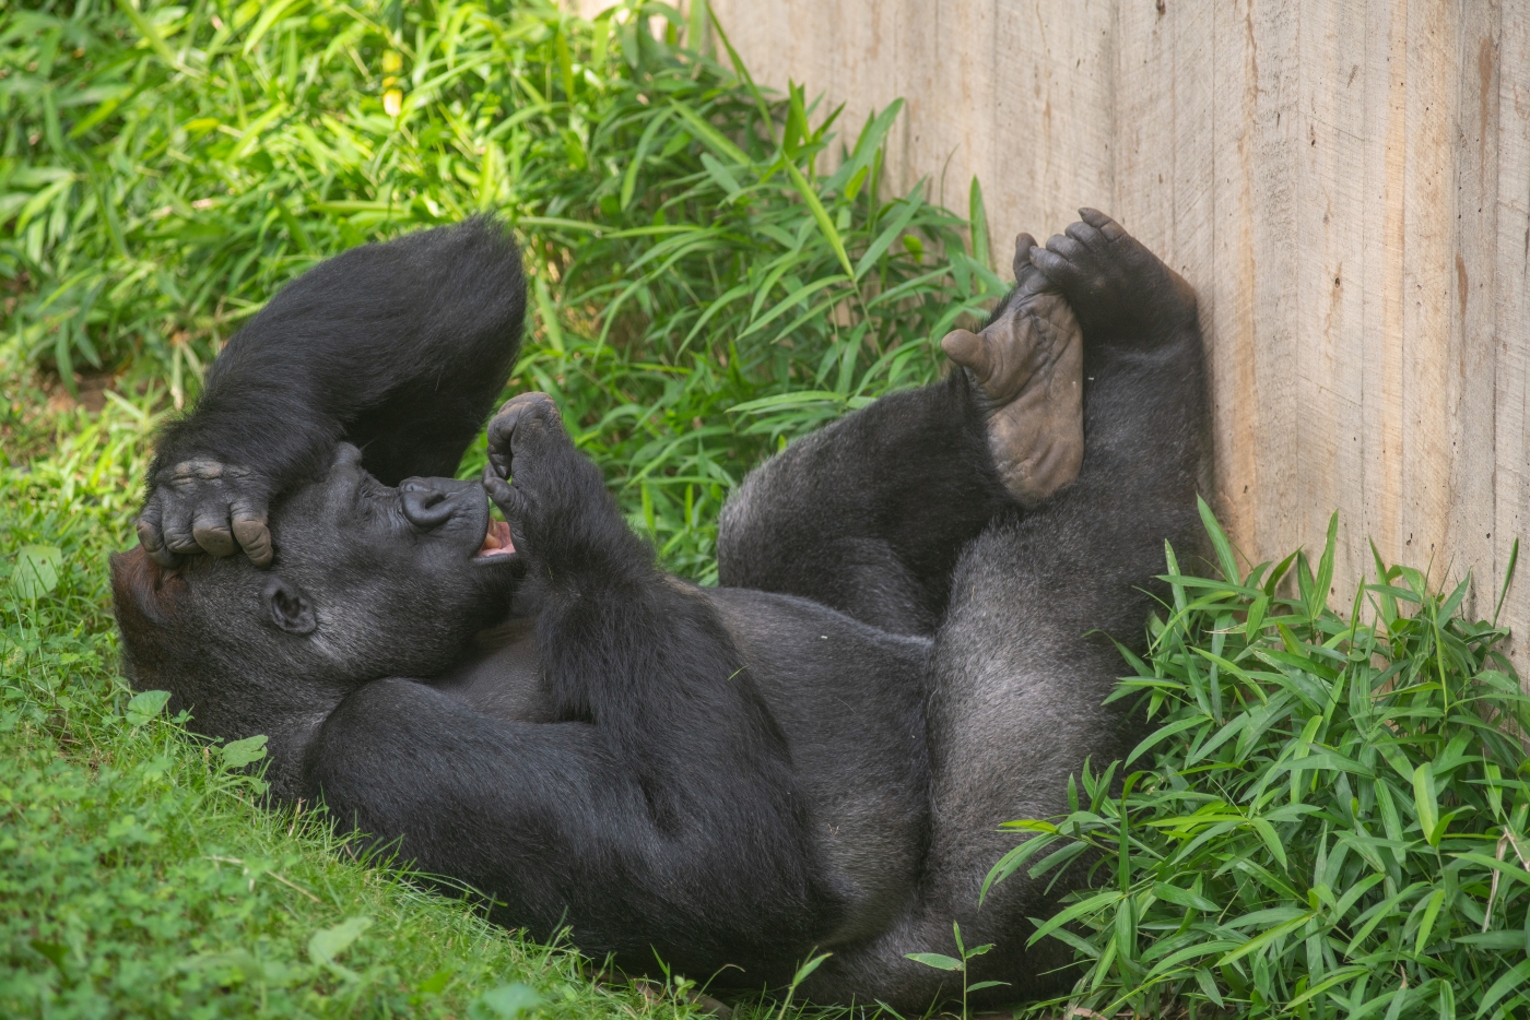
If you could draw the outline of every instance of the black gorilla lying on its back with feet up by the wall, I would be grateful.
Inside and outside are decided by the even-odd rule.
[[[955,369],[786,447],[722,511],[719,587],[664,573],[558,408],[488,425],[519,254],[493,220],[352,249],[282,291],[159,442],[112,563],[124,667],[214,739],[266,734],[272,795],[482,890],[536,937],[711,988],[924,1011],[1071,980],[1027,948],[1076,866],[1016,873],[1069,774],[1140,728],[1105,635],[1143,633],[1196,546],[1190,287],[1092,210],[1016,245]],[[505,520],[491,517],[497,505]]]

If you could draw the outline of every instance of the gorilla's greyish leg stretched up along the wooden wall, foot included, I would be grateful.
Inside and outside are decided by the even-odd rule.
[[[1027,919],[1048,916],[1063,888],[1048,895],[1017,872],[979,910],[985,873],[1021,838],[996,829],[1065,814],[1068,775],[1086,757],[1103,766],[1129,748],[1126,708],[1102,705],[1121,668],[1105,635],[1141,633],[1166,538],[1198,544],[1206,443],[1193,292],[1092,210],[1031,258],[1083,326],[1083,466],[1048,505],[996,520],[961,554],[932,653],[932,843],[920,902],[889,934],[825,962],[808,989],[815,999],[890,996],[921,1009],[953,994],[941,986],[949,976],[904,959],[950,953],[952,921],[967,945],[994,944],[968,980],[1008,985],[984,1000],[1066,983],[1056,973],[1071,957],[1065,947],[1025,948]]]

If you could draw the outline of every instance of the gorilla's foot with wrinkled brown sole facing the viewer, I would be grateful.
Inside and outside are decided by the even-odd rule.
[[[1014,240],[1016,292],[981,333],[941,339],[981,395],[999,477],[1031,508],[1079,477],[1083,462],[1083,332],[1066,298],[1031,265],[1036,240]]]

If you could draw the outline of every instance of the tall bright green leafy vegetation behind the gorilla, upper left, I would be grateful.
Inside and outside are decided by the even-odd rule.
[[[924,184],[892,193],[897,104],[848,125],[800,89],[762,95],[705,3],[594,23],[545,0],[0,18],[0,275],[31,358],[66,381],[133,365],[181,405],[314,261],[496,211],[532,274],[519,384],[574,411],[633,521],[702,578],[705,521],[744,469],[932,378],[932,338],[1002,286],[976,185],[975,231]]]

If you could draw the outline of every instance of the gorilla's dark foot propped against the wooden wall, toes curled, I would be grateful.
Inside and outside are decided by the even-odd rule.
[[[1105,213],[1079,216],[1030,261],[1068,298],[1091,346],[1154,346],[1195,326],[1195,291],[1184,277]]]

